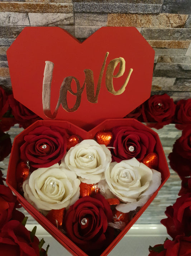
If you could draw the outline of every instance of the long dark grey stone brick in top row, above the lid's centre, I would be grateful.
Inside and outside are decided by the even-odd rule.
[[[74,12],[159,13],[161,4],[73,3]]]

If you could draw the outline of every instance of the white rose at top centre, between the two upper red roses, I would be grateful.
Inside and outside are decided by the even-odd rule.
[[[82,140],[67,152],[61,165],[65,164],[74,171],[82,182],[93,184],[105,179],[105,171],[109,169],[110,162],[111,153],[105,145],[95,140]]]

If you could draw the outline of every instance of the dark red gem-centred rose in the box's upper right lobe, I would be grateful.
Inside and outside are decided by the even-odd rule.
[[[133,157],[141,161],[148,153],[154,152],[156,139],[148,131],[137,130],[132,126],[121,126],[112,129],[114,161],[128,160]]]

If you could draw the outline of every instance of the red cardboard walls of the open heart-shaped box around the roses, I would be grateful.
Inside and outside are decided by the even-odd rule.
[[[25,129],[22,133],[20,133],[18,136],[16,136],[11,156],[10,156],[10,162],[9,162],[9,168],[8,168],[8,174],[6,182],[9,185],[9,187],[13,190],[13,192],[18,197],[20,203],[22,206],[39,222],[40,225],[42,225],[55,239],[57,239],[58,242],[60,242],[68,251],[72,253],[72,255],[79,255],[79,256],[87,256],[86,253],[84,253],[80,248],[78,248],[70,239],[68,239],[64,234],[62,234],[52,223],[50,223],[46,217],[44,217],[38,210],[36,210],[32,205],[30,205],[27,200],[22,197],[19,192],[17,191],[17,184],[15,179],[15,170],[16,165],[18,161],[20,160],[20,145],[22,144],[24,140],[24,136],[29,133],[29,131],[33,130],[35,127],[38,126],[50,126],[52,125],[52,121],[37,121],[33,123],[30,127]],[[156,138],[157,144],[156,144],[156,153],[159,157],[159,164],[158,164],[158,171],[161,172],[162,176],[162,183],[160,187],[157,189],[156,192],[154,192],[153,196],[145,203],[145,205],[139,210],[139,212],[134,216],[134,218],[130,221],[130,223],[125,227],[124,230],[120,232],[120,234],[114,239],[114,241],[110,244],[109,247],[106,248],[106,250],[101,254],[101,256],[108,255],[108,253],[114,248],[114,246],[120,241],[121,238],[125,235],[125,233],[130,229],[130,227],[135,223],[135,221],[142,215],[142,213],[145,211],[145,209],[150,205],[150,203],[153,201],[153,199],[156,197],[159,189],[163,186],[163,184],[166,182],[166,180],[169,178],[169,170],[168,165],[166,162],[166,157],[163,152],[163,148],[161,145],[161,142],[159,140],[158,134],[155,133],[150,128],[146,127],[142,123],[138,122],[134,119],[116,119],[116,120],[105,120],[104,122],[100,123],[100,125],[94,127],[94,129],[90,130],[89,132],[81,129],[80,127],[77,127],[73,125],[70,122],[67,121],[54,121],[54,125],[63,127],[70,132],[70,134],[79,135],[82,139],[94,139],[95,134],[98,131],[110,131],[115,126],[133,126],[137,129],[142,129],[149,131],[152,133],[152,135]]]

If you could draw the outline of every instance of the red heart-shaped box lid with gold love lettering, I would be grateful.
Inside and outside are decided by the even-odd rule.
[[[123,118],[150,96],[154,50],[134,27],[102,27],[82,43],[62,28],[26,27],[7,57],[15,99],[44,120],[90,130]],[[44,76],[47,61],[52,66]],[[121,62],[123,75],[116,77],[120,64],[114,68],[114,62]],[[128,76],[124,92],[115,95]]]

